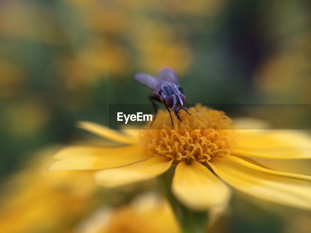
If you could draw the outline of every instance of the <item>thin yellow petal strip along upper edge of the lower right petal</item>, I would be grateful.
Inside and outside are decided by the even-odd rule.
[[[257,166],[253,163],[246,162],[245,160],[243,160],[241,158],[237,158],[237,157],[231,156],[231,155],[224,155],[222,157],[225,159],[231,160],[233,162],[239,163],[240,165],[242,165],[244,167],[248,167],[250,169],[256,170],[256,171],[261,171],[261,172],[269,173],[272,175],[283,176],[283,177],[288,177],[288,178],[293,178],[293,179],[298,179],[298,180],[311,181],[311,176],[304,176],[304,175],[299,175],[299,174],[295,174],[295,173],[288,173],[288,172],[281,172],[281,171],[273,171],[273,170],[264,168],[262,166]]]

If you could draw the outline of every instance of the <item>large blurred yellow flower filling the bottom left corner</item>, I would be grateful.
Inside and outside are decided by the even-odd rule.
[[[69,232],[94,207],[92,173],[47,172],[50,162],[44,154],[4,185],[1,232]]]

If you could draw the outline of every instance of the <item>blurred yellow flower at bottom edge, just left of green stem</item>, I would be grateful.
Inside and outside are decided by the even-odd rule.
[[[118,209],[101,209],[77,228],[77,233],[123,232],[177,233],[179,227],[169,204],[151,193]]]

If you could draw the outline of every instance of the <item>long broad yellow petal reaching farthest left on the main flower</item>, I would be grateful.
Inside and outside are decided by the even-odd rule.
[[[146,160],[145,153],[139,145],[102,148],[90,146],[72,146],[59,151],[49,171],[105,169],[119,167]]]

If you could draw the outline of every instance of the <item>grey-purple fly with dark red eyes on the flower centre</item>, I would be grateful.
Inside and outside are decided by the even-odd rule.
[[[173,119],[169,109],[175,113],[179,121],[182,121],[179,115],[180,110],[185,110],[188,114],[190,114],[185,108],[186,96],[183,94],[183,90],[179,86],[177,74],[172,69],[164,68],[160,70],[157,77],[145,73],[137,73],[134,78],[137,82],[152,90],[152,94],[149,96],[149,99],[151,100],[152,106],[155,110],[154,119],[156,119],[156,114],[158,112],[158,106],[155,101],[163,103],[166,107],[169,112],[169,116],[171,117],[172,126]]]

